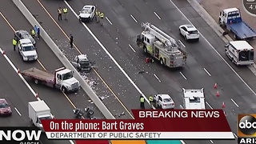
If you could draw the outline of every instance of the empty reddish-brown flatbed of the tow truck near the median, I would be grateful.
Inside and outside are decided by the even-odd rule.
[[[36,78],[43,82],[54,83],[54,74],[50,74],[50,73],[46,72],[45,70],[40,70],[35,67],[32,67],[28,70],[23,70],[21,72],[21,74],[25,75],[27,77],[30,77],[30,78]]]

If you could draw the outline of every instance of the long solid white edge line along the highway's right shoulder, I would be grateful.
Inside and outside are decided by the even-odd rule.
[[[178,9],[178,6],[176,6],[176,5],[174,4],[174,2],[172,2],[172,0],[169,0],[169,1],[176,7],[176,9],[183,15],[183,17],[186,18],[186,15],[182,13],[182,10],[179,10],[179,9]],[[186,18],[186,20],[187,20],[188,22],[190,22],[189,18]],[[193,25],[192,22],[190,22],[190,24]],[[199,31],[198,31],[198,32],[199,32]],[[229,64],[228,62],[226,62],[226,60],[222,57],[221,54],[218,53],[218,51],[214,48],[214,46],[212,46],[212,45],[210,44],[210,42],[209,42],[200,32],[199,32],[199,34],[202,36],[202,38],[204,38],[204,39],[206,40],[206,42],[207,42],[207,43],[210,45],[210,47],[218,54],[218,56],[219,56],[220,58],[222,58],[222,60],[226,63],[226,65],[230,67],[230,69],[234,72],[234,74],[236,74],[236,75],[238,76],[238,78],[240,78],[241,81],[249,88],[249,90],[250,90],[254,95],[256,95],[256,93],[254,92],[254,90],[252,90],[252,89],[250,88],[250,86],[242,79],[242,77],[233,69],[233,67],[230,66],[230,64]]]

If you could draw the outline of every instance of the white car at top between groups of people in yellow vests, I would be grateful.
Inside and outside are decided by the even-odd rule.
[[[96,14],[96,7],[91,5],[86,5],[82,7],[82,10],[79,11],[79,21],[80,22],[91,22],[94,19]]]

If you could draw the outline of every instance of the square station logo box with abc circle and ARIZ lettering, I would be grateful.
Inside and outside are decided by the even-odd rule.
[[[238,144],[256,143],[256,114],[238,114]]]

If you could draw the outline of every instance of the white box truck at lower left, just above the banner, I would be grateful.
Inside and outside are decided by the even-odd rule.
[[[44,101],[29,102],[29,118],[30,122],[43,130],[41,120],[53,119],[54,115],[50,113],[50,107]]]

